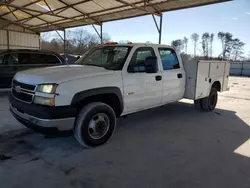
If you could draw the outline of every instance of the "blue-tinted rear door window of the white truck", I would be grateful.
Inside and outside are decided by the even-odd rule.
[[[179,69],[180,64],[173,49],[159,48],[163,70]]]

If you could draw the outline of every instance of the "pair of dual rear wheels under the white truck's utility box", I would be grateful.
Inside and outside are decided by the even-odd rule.
[[[197,110],[213,111],[216,107],[218,100],[218,93],[216,88],[212,88],[210,94],[206,98],[194,101],[194,106]]]

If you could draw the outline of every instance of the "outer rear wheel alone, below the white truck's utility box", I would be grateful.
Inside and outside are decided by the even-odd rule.
[[[201,106],[204,111],[213,111],[218,100],[216,88],[212,88],[208,97],[201,99]]]

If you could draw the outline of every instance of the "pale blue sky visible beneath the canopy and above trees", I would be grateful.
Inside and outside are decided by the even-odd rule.
[[[83,28],[95,33],[91,26]],[[204,32],[208,32],[215,34],[213,55],[219,55],[221,53],[221,43],[217,38],[219,31],[230,32],[234,38],[239,38],[246,43],[244,52],[245,56],[249,56],[250,0],[234,0],[163,14],[162,44],[171,44],[172,40],[183,39],[186,36],[189,39],[188,53],[190,54],[193,54],[191,34],[196,32],[201,38]],[[151,15],[106,22],[103,24],[103,32],[108,33],[112,41],[158,43],[158,31]],[[201,53],[201,44],[199,44],[197,52]]]

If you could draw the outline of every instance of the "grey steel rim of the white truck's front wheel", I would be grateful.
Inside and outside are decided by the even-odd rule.
[[[92,139],[100,139],[104,137],[109,130],[109,118],[104,113],[94,115],[88,125],[88,133]]]

